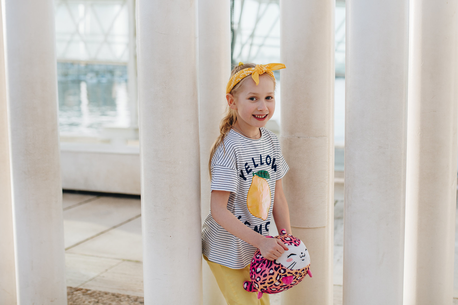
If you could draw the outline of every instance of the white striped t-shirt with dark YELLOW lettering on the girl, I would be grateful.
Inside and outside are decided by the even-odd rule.
[[[278,138],[266,128],[261,128],[260,139],[244,137],[231,129],[223,142],[224,145],[218,147],[212,158],[210,188],[230,191],[227,209],[251,230],[266,236],[272,216],[275,181],[283,178],[289,170]],[[268,172],[269,178],[265,171]],[[254,173],[257,173],[256,179],[253,178]],[[264,181],[258,178],[258,175],[264,177]],[[247,203],[251,182],[255,185],[260,181],[264,183],[264,192],[268,194],[270,189],[271,194],[270,208],[268,197],[263,197],[265,199],[262,202],[269,209],[268,213],[266,209],[263,210],[263,216],[256,212],[256,207],[251,208],[251,212],[255,214],[253,215],[248,207],[248,204],[253,207],[253,201]],[[258,190],[259,187],[256,185],[253,189]],[[250,193],[253,194],[253,190]],[[250,195],[250,198],[252,197]],[[254,246],[218,225],[210,211],[202,225],[202,253],[208,260],[229,268],[240,269],[251,262],[255,251]]]

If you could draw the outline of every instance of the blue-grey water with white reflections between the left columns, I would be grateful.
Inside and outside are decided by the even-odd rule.
[[[57,63],[60,132],[97,136],[130,125],[127,66]]]

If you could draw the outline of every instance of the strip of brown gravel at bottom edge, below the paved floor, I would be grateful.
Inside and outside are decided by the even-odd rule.
[[[143,305],[143,297],[67,287],[68,305]]]

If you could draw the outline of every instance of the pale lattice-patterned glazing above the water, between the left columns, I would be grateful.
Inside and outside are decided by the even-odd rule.
[[[58,60],[127,63],[127,0],[56,0]]]

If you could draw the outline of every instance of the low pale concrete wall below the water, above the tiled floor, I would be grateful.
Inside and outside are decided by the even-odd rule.
[[[61,143],[64,189],[140,195],[138,146]]]

